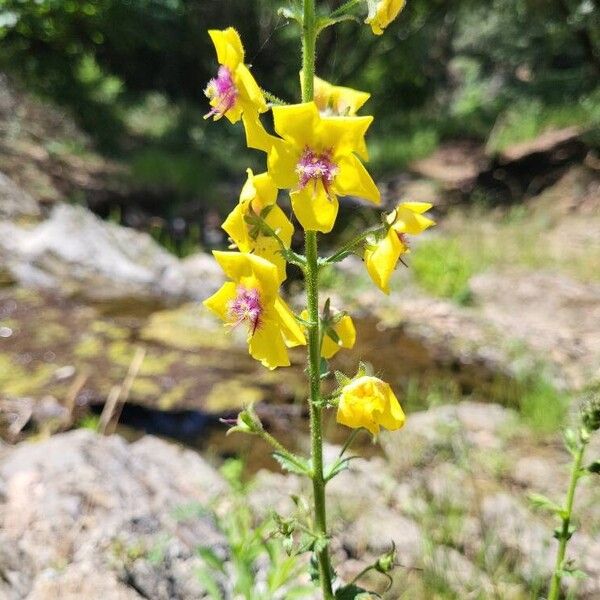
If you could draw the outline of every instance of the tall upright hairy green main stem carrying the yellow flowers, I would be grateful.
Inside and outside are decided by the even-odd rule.
[[[304,0],[302,21],[302,101],[314,98],[315,45],[317,38],[315,0]],[[310,438],[311,466],[315,506],[316,533],[327,538],[327,516],[325,508],[325,481],[323,478],[323,406],[321,402],[321,325],[319,320],[319,253],[317,232],[305,232],[306,303],[308,309],[308,373],[310,383]],[[333,600],[331,584],[331,562],[328,544],[317,552],[319,581],[323,600]]]

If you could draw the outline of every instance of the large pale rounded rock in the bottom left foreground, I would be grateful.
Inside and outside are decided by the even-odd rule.
[[[226,487],[197,454],[77,430],[3,452],[0,480],[1,597],[204,597],[196,547],[221,534],[173,515]]]

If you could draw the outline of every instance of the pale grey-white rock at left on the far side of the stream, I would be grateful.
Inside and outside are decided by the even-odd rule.
[[[0,221],[0,257],[23,286],[100,302],[201,300],[223,280],[208,257],[182,264],[149,235],[66,204],[33,229]]]

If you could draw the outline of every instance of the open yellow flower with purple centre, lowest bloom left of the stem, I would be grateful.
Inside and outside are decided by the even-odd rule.
[[[204,306],[228,326],[246,325],[250,354],[265,367],[290,364],[288,347],[306,343],[294,314],[279,296],[277,267],[268,260],[243,252],[213,255],[227,281],[204,301]]]

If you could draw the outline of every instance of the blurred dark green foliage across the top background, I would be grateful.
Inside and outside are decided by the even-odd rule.
[[[177,204],[240,178],[239,129],[212,126],[203,89],[216,70],[208,28],[235,25],[263,87],[298,95],[285,0],[0,0],[0,69],[69,107],[101,149]],[[335,8],[337,0],[322,1]],[[375,37],[326,30],[318,73],[372,93],[372,169],[393,172],[440,141],[499,150],[549,125],[600,120],[600,9],[592,0],[409,0]]]

